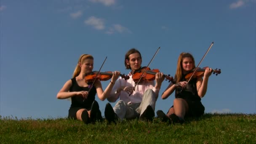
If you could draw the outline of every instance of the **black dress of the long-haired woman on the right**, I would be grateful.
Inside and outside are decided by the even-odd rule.
[[[185,76],[182,75],[181,81],[186,81]],[[193,78],[189,81],[186,88],[181,91],[181,87],[177,87],[175,90],[175,98],[186,99],[189,101],[201,101],[201,98],[197,93],[197,78]]]

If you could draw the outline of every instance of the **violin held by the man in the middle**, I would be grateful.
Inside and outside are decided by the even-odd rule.
[[[146,72],[144,72],[146,71]],[[141,67],[139,70],[136,70],[133,73],[132,79],[135,83],[137,83],[140,79],[143,81],[152,81],[155,80],[155,74],[157,72],[160,72],[159,69],[150,69],[149,67]],[[143,75],[144,73],[144,75]],[[169,82],[173,82],[173,77],[170,77],[170,75],[164,75],[165,80],[169,80]]]

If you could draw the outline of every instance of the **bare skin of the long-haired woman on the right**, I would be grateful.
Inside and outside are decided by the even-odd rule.
[[[191,71],[193,69],[193,61],[190,57],[185,57],[182,60],[182,73],[186,74],[187,72]],[[197,78],[197,93],[200,98],[203,98],[205,96],[205,93],[207,91],[207,84],[208,84],[208,79],[213,72],[213,69],[207,67],[205,68],[204,72],[204,78],[202,79],[201,77]],[[166,90],[162,94],[162,99],[167,99],[168,96],[170,96],[173,91],[175,90],[176,86],[181,86],[182,88],[185,88],[187,85],[187,81],[182,81],[174,85],[171,83]],[[188,104],[184,99],[174,99],[173,100],[173,107],[169,110],[167,116],[170,117],[171,114],[175,114],[178,117],[184,118],[185,113],[188,112]]]

